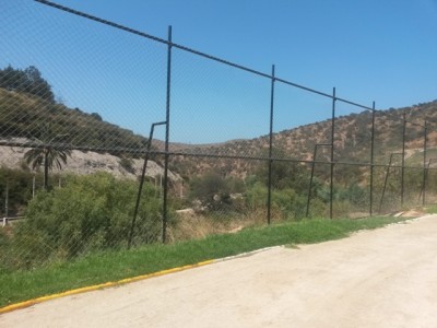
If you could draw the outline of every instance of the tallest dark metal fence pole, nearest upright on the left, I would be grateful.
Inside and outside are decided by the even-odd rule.
[[[163,243],[167,236],[167,198],[168,198],[168,140],[170,129],[170,86],[172,86],[172,26],[168,26],[167,48],[167,99],[165,110],[165,161],[164,161],[164,199],[163,199]]]

